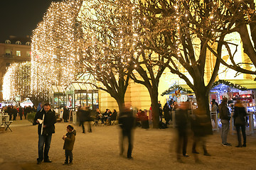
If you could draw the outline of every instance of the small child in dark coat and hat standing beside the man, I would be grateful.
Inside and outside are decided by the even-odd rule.
[[[63,165],[71,165],[73,164],[73,147],[75,143],[75,135],[76,131],[74,130],[72,125],[67,126],[67,134],[63,135],[64,146],[63,149],[65,149],[65,162]],[[68,158],[70,159],[70,162],[68,164]]]

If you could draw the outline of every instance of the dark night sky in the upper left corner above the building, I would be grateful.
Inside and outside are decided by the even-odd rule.
[[[0,42],[8,39],[9,35],[32,35],[32,30],[42,21],[43,14],[52,1],[0,0]]]

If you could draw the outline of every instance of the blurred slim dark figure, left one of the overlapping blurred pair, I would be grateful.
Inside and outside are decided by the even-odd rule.
[[[181,103],[179,108],[176,110],[175,119],[178,132],[176,155],[177,161],[181,162],[181,148],[183,157],[189,157],[188,154],[186,154],[186,147],[188,144],[188,102]]]

